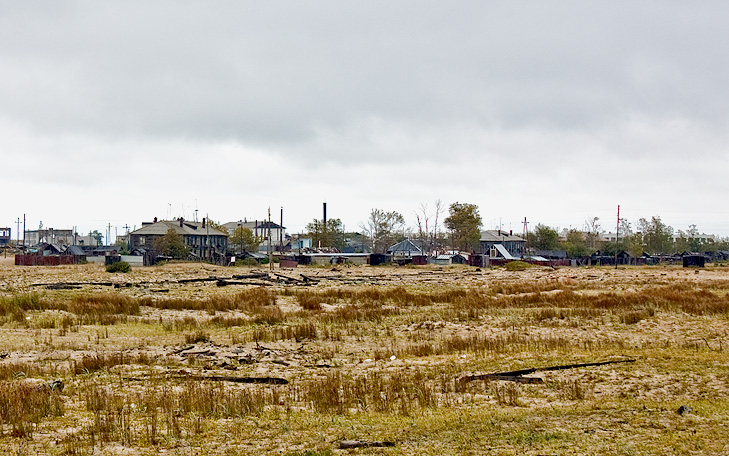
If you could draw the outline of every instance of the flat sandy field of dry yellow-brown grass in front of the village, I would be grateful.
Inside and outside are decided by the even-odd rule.
[[[3,262],[2,453],[729,454],[729,268],[265,272]]]

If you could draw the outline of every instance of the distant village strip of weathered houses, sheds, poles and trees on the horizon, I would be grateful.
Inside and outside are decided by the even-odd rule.
[[[404,229],[397,212],[374,210],[357,232],[344,232],[339,219],[323,217],[307,225],[306,232],[291,234],[281,223],[241,219],[218,223],[203,218],[143,222],[140,228],[116,235],[114,242],[98,231],[80,235],[74,229],[39,227],[24,230],[0,228],[0,249],[15,254],[16,265],[60,265],[124,261],[150,266],[163,261],[199,261],[218,265],[256,265],[270,262],[281,267],[331,264],[500,266],[523,261],[548,266],[652,265],[681,263],[704,266],[729,260],[729,240],[699,233],[695,226],[674,233],[660,217],[638,222],[640,230],[620,220],[617,232],[600,229],[598,219],[585,229],[554,228],[537,224],[521,233],[481,230],[474,205],[454,203],[439,225],[438,216],[418,217],[415,230]],[[283,218],[283,214],[281,216]],[[104,240],[107,239],[107,242]]]

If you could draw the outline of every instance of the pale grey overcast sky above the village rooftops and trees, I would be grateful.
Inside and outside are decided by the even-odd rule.
[[[0,0],[0,226],[299,232],[474,203],[484,228],[729,236],[724,1]],[[15,237],[15,235],[13,235]]]

